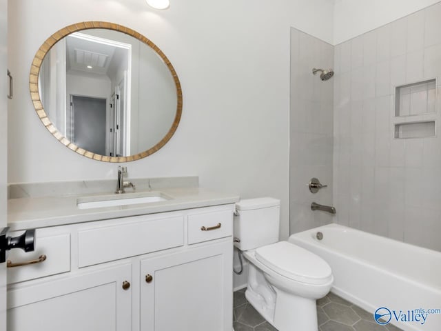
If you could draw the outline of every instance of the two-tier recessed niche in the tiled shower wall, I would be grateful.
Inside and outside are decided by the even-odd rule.
[[[395,138],[435,137],[435,101],[436,79],[397,86]]]

